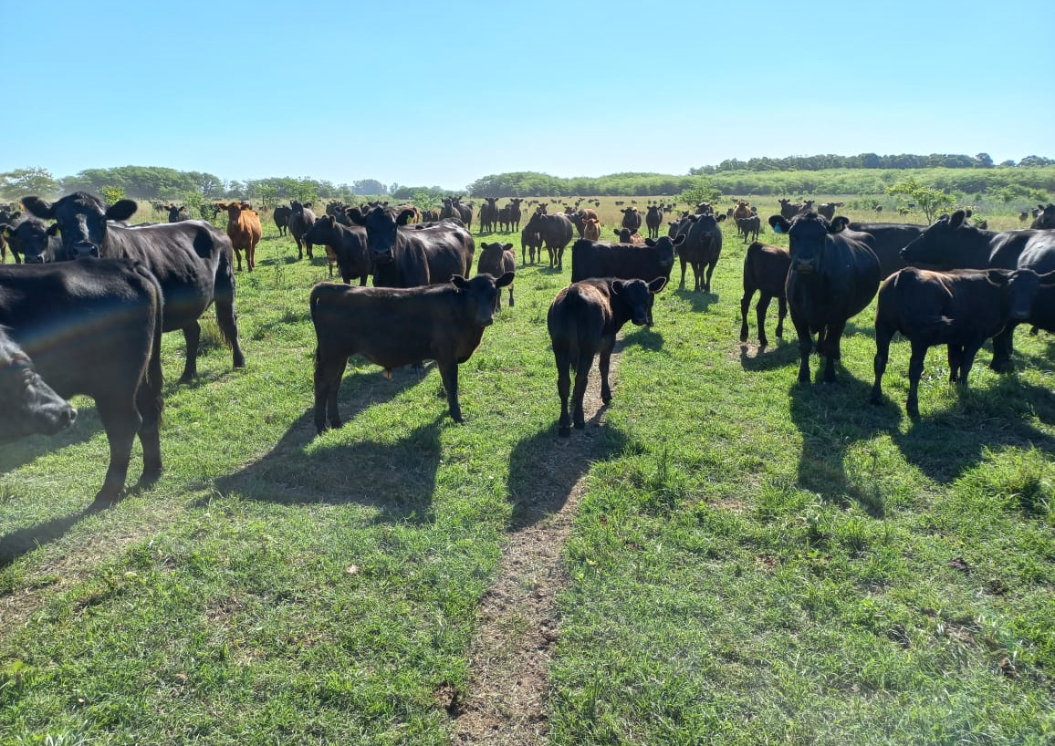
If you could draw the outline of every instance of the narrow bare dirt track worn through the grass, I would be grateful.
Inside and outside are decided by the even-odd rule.
[[[620,342],[612,355],[613,385]],[[556,597],[569,582],[562,551],[586,492],[588,465],[600,454],[598,428],[608,411],[600,400],[596,359],[583,409],[594,413],[586,431],[554,437],[550,457],[537,462],[537,487],[516,504],[501,567],[477,609],[466,690],[437,692],[456,716],[453,744],[546,742],[546,673],[560,628]]]

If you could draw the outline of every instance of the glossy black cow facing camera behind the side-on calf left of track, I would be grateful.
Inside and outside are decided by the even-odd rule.
[[[351,221],[366,229],[373,284],[413,288],[467,275],[476,251],[472,234],[454,219],[408,227],[406,221],[411,215],[410,210],[397,213],[392,208],[382,207],[371,208],[365,214],[357,208],[348,210]]]

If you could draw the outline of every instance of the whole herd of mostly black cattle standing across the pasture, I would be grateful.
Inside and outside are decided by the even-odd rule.
[[[659,235],[672,205],[650,203],[644,214],[629,207],[620,211],[614,231],[619,240],[612,242],[600,240],[599,219],[589,207],[565,205],[563,213],[550,214],[539,204],[524,220],[522,201],[500,208],[486,199],[478,224],[481,233],[521,231],[521,260],[541,261],[544,248],[555,271],[562,270],[571,244],[571,283],[558,291],[546,315],[560,398],[558,433],[568,436],[573,427],[583,427],[582,398],[594,359],[599,358],[601,397],[610,401],[615,337],[628,321],[654,322],[654,297],[669,283],[675,257],[679,287],[686,288],[691,267],[691,292],[709,293],[723,223],[734,221],[747,241],[756,238],[761,217],[742,200],[718,214],[702,203]],[[245,365],[234,277],[243,254],[245,270],[255,267],[260,215],[246,203],[217,203],[228,214],[225,233],[178,215],[167,223],[129,225],[135,202],[108,207],[87,193],[55,202],[25,197],[22,204],[31,217],[3,233],[26,266],[0,268],[4,434],[57,432],[76,418],[65,399],[91,396],[111,451],[97,499],[115,499],[124,492],[136,436],[143,453],[139,484],[153,483],[161,472],[160,335],[183,331],[187,355],[180,380],[190,380],[196,375],[198,319],[213,306],[233,366]],[[871,399],[882,400],[889,342],[900,333],[912,342],[906,408],[913,416],[929,347],[947,347],[951,380],[965,385],[986,339],[994,339],[992,367],[1006,370],[1016,325],[1055,331],[1055,207],[1041,207],[1033,228],[1005,232],[974,227],[963,211],[924,227],[853,223],[835,214],[838,207],[782,204],[768,222],[787,234],[789,248],[753,240],[744,260],[740,339],[747,341],[749,306],[759,292],[760,349],[768,345],[765,315],[776,297],[778,337],[788,310],[799,337],[800,382],[811,380],[814,338],[824,358],[822,379],[836,379],[847,321],[877,293]],[[386,373],[436,360],[449,414],[461,423],[458,367],[493,323],[503,289],[514,307],[513,243],[481,242],[474,276],[473,211],[459,198],[445,199],[433,214],[369,203],[329,205],[321,217],[294,200],[281,218],[275,210],[274,219],[280,233],[293,237],[299,256],[306,251],[311,257],[313,247],[325,247],[330,276],[335,264],[343,280],[320,282],[308,299],[316,341],[316,430],[341,425],[338,392],[352,354]],[[647,238],[638,233],[642,224]]]

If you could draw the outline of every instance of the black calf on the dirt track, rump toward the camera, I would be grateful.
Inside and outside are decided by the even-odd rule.
[[[649,320],[652,296],[667,284],[665,277],[651,282],[640,279],[587,279],[561,289],[550,303],[546,328],[557,364],[557,393],[560,396],[558,434],[568,437],[572,425],[586,427],[582,398],[595,356],[600,371],[600,397],[612,401],[608,374],[612,364],[615,335],[627,321],[644,326]],[[575,391],[571,391],[571,369],[575,368]],[[571,412],[569,412],[571,395]]]

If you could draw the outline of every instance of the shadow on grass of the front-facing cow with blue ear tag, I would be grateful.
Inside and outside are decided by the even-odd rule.
[[[794,349],[798,357],[798,348]],[[857,484],[846,473],[847,451],[897,421],[896,414],[869,407],[871,385],[837,369],[838,382],[795,384],[789,391],[791,421],[802,435],[798,484],[822,499],[848,507],[859,504],[874,517],[884,514],[878,484]]]

